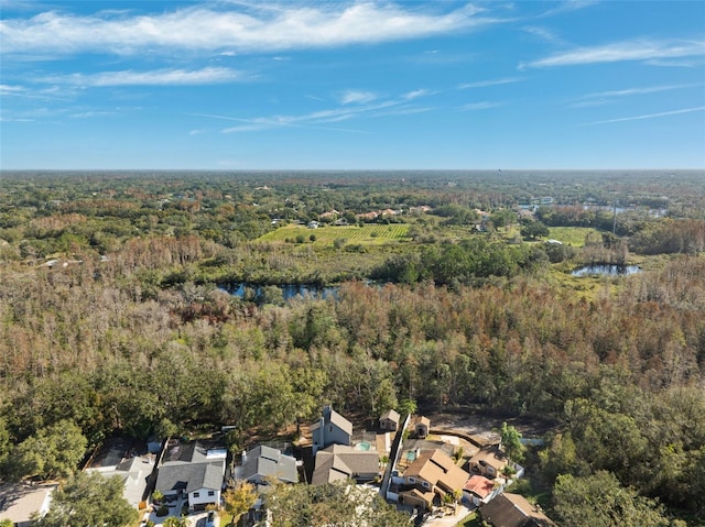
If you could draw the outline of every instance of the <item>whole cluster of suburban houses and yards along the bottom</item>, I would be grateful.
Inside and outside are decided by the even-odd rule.
[[[355,484],[408,514],[416,526],[459,525],[479,512],[494,527],[552,526],[536,505],[506,492],[524,469],[499,442],[453,430],[434,430],[430,418],[384,411],[371,430],[357,430],[330,405],[296,444],[269,441],[241,451],[228,448],[227,427],[196,439],[142,443],[111,438],[83,471],[119,477],[122,497],[139,512],[140,526],[210,527],[221,523],[224,493],[250,485],[247,509],[228,515],[242,526],[270,525],[267,495],[276,485]],[[0,488],[0,519],[29,527],[46,514],[56,484]],[[4,525],[4,524],[2,524]]]

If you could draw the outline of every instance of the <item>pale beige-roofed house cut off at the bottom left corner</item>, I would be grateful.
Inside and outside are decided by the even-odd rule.
[[[0,520],[10,520],[14,527],[30,527],[34,515],[44,516],[48,512],[52,493],[51,484],[7,484],[0,486]]]

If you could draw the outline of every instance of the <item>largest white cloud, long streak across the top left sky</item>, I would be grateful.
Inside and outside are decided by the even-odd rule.
[[[282,3],[276,9],[196,4],[144,15],[46,11],[7,19],[0,34],[6,54],[259,53],[408,40],[498,22],[480,13],[471,6],[441,12],[434,4],[405,9],[375,2]]]

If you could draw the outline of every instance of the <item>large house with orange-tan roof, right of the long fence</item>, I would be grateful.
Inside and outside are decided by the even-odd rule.
[[[442,450],[424,450],[403,474],[404,485],[420,491],[424,496],[424,503],[416,501],[419,493],[404,491],[400,496],[403,496],[403,502],[406,504],[424,505],[430,508],[435,497],[442,501],[446,494],[462,494],[469,477],[470,474],[456,465],[453,458]],[[434,494],[431,501],[429,501],[430,492]]]

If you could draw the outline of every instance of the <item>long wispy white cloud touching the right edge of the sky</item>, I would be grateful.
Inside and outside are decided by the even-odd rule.
[[[705,41],[638,40],[604,46],[578,47],[546,58],[520,64],[519,68],[547,68],[583,64],[653,61],[705,55]]]

